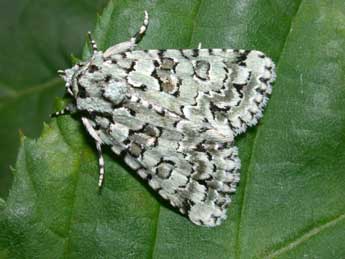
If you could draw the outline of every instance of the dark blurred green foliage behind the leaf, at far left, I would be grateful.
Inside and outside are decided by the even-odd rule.
[[[38,137],[64,84],[56,70],[80,57],[107,0],[0,0],[0,197],[6,197],[19,130]]]

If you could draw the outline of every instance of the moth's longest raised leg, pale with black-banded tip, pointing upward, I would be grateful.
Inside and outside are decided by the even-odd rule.
[[[103,56],[105,58],[110,57],[112,55],[118,54],[118,53],[122,53],[122,52],[126,52],[128,50],[132,50],[136,47],[136,45],[142,40],[142,38],[144,37],[144,34],[147,30],[147,27],[149,25],[149,15],[148,13],[145,11],[145,18],[144,18],[144,22],[141,25],[139,31],[137,31],[134,36],[132,38],[130,38],[128,41],[125,42],[121,42],[118,43],[110,48],[108,48]]]

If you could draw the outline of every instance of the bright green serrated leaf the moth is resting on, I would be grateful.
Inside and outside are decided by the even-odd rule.
[[[148,10],[142,48],[202,42],[259,49],[276,62],[264,118],[237,139],[241,183],[229,218],[212,229],[191,224],[110,152],[99,193],[94,144],[64,116],[37,141],[22,140],[0,210],[0,256],[345,257],[344,8],[340,0],[110,2],[96,27],[103,49],[129,38]]]

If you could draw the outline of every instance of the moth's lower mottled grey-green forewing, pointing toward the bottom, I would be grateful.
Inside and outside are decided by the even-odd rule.
[[[240,168],[229,136],[142,102],[96,115],[92,123],[104,144],[192,222],[215,226],[226,217]]]

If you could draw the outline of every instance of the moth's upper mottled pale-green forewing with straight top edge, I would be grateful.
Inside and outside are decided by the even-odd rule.
[[[275,79],[274,63],[256,50],[148,50],[112,59],[126,63],[142,98],[194,119],[228,120],[235,135],[262,117]]]

